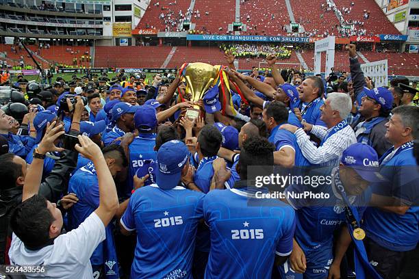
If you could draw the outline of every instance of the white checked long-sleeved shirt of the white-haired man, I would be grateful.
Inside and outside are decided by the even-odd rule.
[[[314,125],[310,132],[319,139],[324,139],[331,129],[327,130],[325,127]],[[331,135],[320,147],[310,142],[309,135],[303,129],[298,129],[294,134],[305,159],[320,166],[339,165],[344,150],[357,142],[355,132],[349,125]]]

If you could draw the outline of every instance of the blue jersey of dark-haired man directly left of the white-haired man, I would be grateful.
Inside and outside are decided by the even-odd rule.
[[[281,148],[290,147],[294,149],[294,165],[304,166],[311,165],[307,159],[303,156],[303,152],[296,142],[296,137],[290,131],[279,129],[280,125],[277,125],[272,131],[270,131],[269,142],[275,145],[275,150],[279,151]]]

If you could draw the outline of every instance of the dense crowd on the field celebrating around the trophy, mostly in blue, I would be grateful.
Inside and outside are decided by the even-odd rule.
[[[419,90],[375,87],[346,50],[351,72],[327,79],[272,53],[270,70],[240,73],[227,52],[203,96],[183,69],[49,88],[19,77],[0,109],[0,265],[27,278],[398,278],[419,241]],[[272,185],[289,172],[327,179]]]

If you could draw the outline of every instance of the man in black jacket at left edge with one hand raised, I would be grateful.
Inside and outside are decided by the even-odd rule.
[[[47,125],[45,136],[34,149],[34,159],[43,161],[45,153],[49,151],[62,151],[62,148],[49,150],[51,141],[56,141],[56,134],[62,135],[62,124],[55,125],[52,122]],[[72,135],[77,135],[77,124],[74,125]],[[60,131],[58,133],[58,131]],[[47,147],[46,147],[47,146]],[[69,176],[77,164],[77,152],[73,150],[62,151],[62,157],[55,161],[53,170],[41,183],[39,181],[38,194],[43,196],[50,202],[58,202],[60,196],[66,193],[68,187]],[[44,163],[42,163],[43,165]],[[45,167],[44,167],[45,168]],[[39,174],[40,173],[40,174]],[[12,231],[9,228],[12,209],[22,202],[23,185],[34,177],[39,176],[41,179],[42,170],[29,174],[27,172],[27,163],[16,155],[7,153],[0,156],[0,177],[3,181],[0,187],[0,264],[8,264],[8,243],[12,237]],[[27,178],[27,179],[26,179]],[[65,197],[64,197],[65,198]]]

